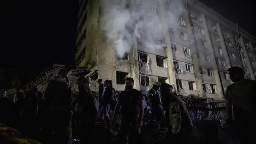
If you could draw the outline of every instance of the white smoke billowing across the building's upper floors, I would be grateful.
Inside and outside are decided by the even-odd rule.
[[[145,49],[163,48],[165,44],[160,15],[148,14],[148,10],[138,10],[139,7],[127,8],[127,1],[101,0],[101,8],[103,8],[101,28],[105,31],[108,40],[114,43],[117,56],[121,58],[131,52],[135,37],[143,42]],[[158,9],[160,11],[160,8]],[[167,11],[166,17],[168,25],[175,28],[178,20],[174,20],[170,11]]]

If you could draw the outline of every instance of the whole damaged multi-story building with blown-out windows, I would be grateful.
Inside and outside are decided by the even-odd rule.
[[[237,38],[236,24],[198,0],[176,1],[128,0],[132,10],[146,10],[144,22],[154,15],[165,46],[145,49],[140,38],[134,38],[127,57],[116,58],[100,25],[101,0],[80,0],[76,64],[94,64],[99,78],[113,80],[117,90],[124,89],[124,78],[130,76],[138,90],[148,90],[159,81],[173,84],[181,93],[216,99],[222,99],[231,84],[227,74],[231,66],[243,67],[247,78],[254,80],[256,38],[242,29]]]

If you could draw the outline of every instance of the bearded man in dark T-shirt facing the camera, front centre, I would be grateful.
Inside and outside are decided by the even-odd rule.
[[[140,128],[143,124],[143,98],[140,91],[133,88],[134,80],[125,79],[125,90],[118,97],[112,124],[115,123],[121,108],[120,144],[126,144],[129,135],[129,144],[140,142]]]

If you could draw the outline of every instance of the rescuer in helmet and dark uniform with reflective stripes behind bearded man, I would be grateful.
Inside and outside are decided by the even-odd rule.
[[[160,82],[156,82],[153,84],[153,87],[149,90],[148,94],[146,95],[146,97],[148,98],[148,100],[146,101],[146,103],[149,104],[150,106],[150,111],[152,113],[152,117],[149,123],[153,124],[153,125],[158,125],[158,128],[160,128],[161,130],[166,130],[165,128],[165,116],[164,116],[164,110],[162,107],[162,101],[161,101],[161,95],[159,92],[160,89]],[[154,118],[156,118],[157,122],[153,123]]]

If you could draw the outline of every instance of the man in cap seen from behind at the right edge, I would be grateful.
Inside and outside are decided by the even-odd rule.
[[[244,78],[244,70],[238,66],[228,69],[230,84],[226,90],[226,122],[234,124],[238,138],[242,144],[252,141],[252,131],[256,129],[256,81]],[[234,116],[233,116],[234,114]],[[234,121],[233,121],[234,119]],[[248,141],[249,140],[249,141]]]

